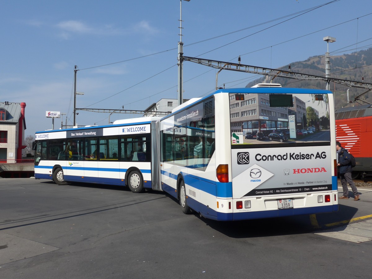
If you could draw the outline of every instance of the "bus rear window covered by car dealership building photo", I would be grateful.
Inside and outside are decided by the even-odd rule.
[[[314,92],[231,94],[231,144],[330,142],[328,97]]]

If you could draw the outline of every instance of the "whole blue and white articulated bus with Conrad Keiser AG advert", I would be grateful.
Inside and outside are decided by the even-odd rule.
[[[296,108],[309,100],[313,111],[329,113],[331,128],[299,138]],[[332,92],[325,90],[221,89],[154,121],[38,132],[36,146],[42,155],[35,159],[35,178],[57,184],[117,184],[133,192],[148,187],[178,199],[185,214],[196,212],[221,221],[335,212],[333,104]],[[289,139],[244,137],[244,127],[260,131],[263,124],[275,128],[278,137],[278,131],[288,130]],[[148,137],[139,134],[141,125],[151,126]],[[122,135],[124,129],[131,134]],[[80,137],[78,160],[76,152],[71,153],[77,146],[71,135],[75,133]],[[64,159],[51,158],[57,154],[57,140],[58,151],[65,148]],[[138,142],[142,150],[146,148],[147,165],[128,158],[132,150],[139,158]],[[93,149],[100,155],[87,158]],[[113,151],[118,158],[113,158]]]

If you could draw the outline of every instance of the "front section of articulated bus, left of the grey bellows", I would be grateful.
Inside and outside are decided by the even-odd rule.
[[[36,132],[35,179],[151,188],[151,127],[158,117]]]

